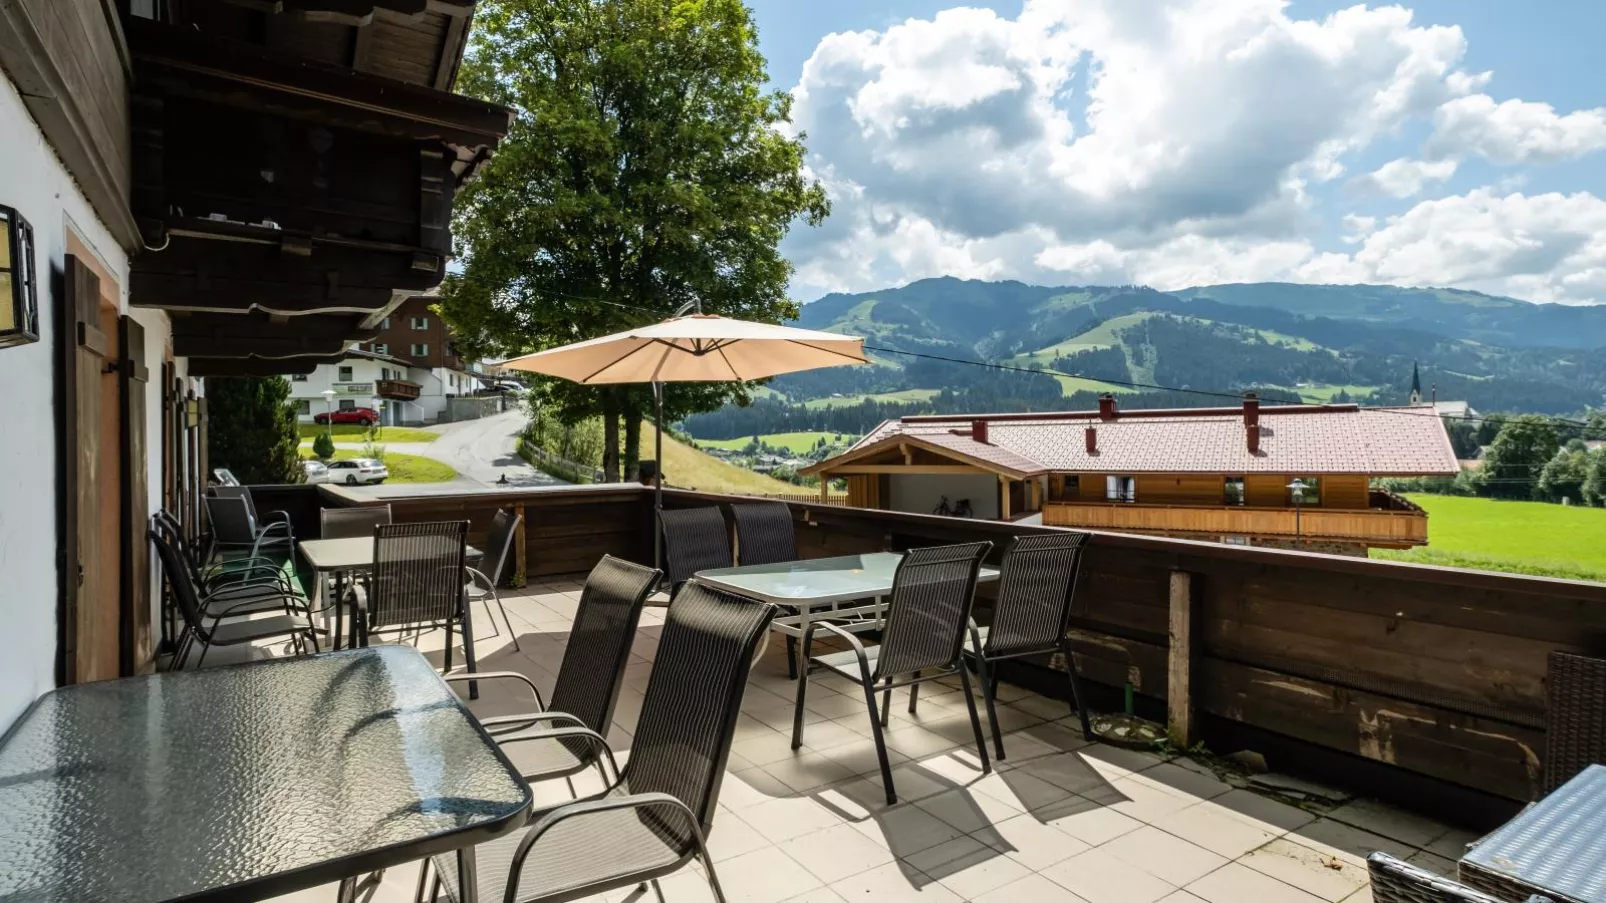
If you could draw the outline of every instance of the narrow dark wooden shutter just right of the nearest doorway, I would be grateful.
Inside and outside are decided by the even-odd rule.
[[[119,398],[122,402],[122,606],[119,612],[117,670],[143,675],[156,670],[151,636],[151,553],[145,530],[149,511],[149,450],[146,448],[145,326],[132,317],[119,321]]]

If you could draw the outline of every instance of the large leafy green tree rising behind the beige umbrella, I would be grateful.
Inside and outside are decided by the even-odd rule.
[[[689,300],[779,321],[790,225],[829,204],[803,169],[792,98],[764,92],[740,0],[483,0],[461,90],[514,111],[507,138],[458,198],[459,273],[440,312],[472,353],[522,353],[649,323]],[[639,447],[646,387],[543,392],[560,416],[625,424]],[[675,386],[666,416],[745,400]],[[618,476],[612,452],[609,479]]]

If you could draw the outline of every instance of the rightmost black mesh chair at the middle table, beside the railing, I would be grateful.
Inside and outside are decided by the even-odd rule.
[[[1004,758],[1004,731],[999,729],[997,717],[996,665],[1005,659],[1060,652],[1071,681],[1071,713],[1081,717],[1082,738],[1094,739],[1087,710],[1082,707],[1076,659],[1065,638],[1084,548],[1087,533],[1015,537],[1004,551],[993,623],[980,628],[975,622],[970,623],[970,646],[965,649],[965,657],[976,665],[981,696],[988,704],[988,720],[993,723],[993,750],[999,758]],[[912,689],[909,710],[914,710]]]

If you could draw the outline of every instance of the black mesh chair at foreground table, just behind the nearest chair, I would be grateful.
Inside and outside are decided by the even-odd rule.
[[[448,683],[467,680],[511,680],[522,683],[533,696],[536,710],[528,715],[495,715],[480,718],[491,736],[517,734],[527,728],[548,723],[577,726],[607,734],[613,723],[613,705],[625,684],[625,665],[636,639],[636,625],[647,596],[658,586],[663,572],[622,561],[610,554],[591,569],[586,585],[580,590],[580,606],[569,628],[569,644],[552,683],[552,701],[541,699],[540,688],[519,672],[480,672],[477,675],[448,675]],[[607,744],[591,742],[589,734],[560,738],[524,738],[519,768],[527,781],[569,778],[596,768],[604,784],[618,779],[612,773],[613,754]],[[573,792],[573,784],[570,784]]]

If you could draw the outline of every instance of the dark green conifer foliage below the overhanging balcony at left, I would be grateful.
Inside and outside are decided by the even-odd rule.
[[[299,484],[300,434],[283,376],[212,376],[206,381],[207,460],[243,484]]]

